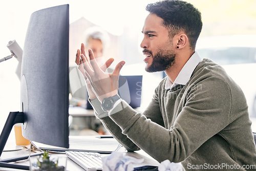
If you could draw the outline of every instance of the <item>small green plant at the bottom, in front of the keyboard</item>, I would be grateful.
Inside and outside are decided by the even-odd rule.
[[[44,152],[38,159],[37,159],[38,169],[36,170],[44,170],[44,171],[51,171],[51,170],[58,170],[62,171],[65,170],[64,166],[58,166],[58,160],[50,160],[50,156],[48,152]]]

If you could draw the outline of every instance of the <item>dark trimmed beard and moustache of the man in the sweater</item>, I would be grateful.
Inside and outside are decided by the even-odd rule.
[[[151,51],[143,50],[151,54],[153,61],[151,66],[145,67],[146,72],[165,71],[172,67],[175,63],[176,53],[173,50],[158,50],[156,55],[152,55]]]

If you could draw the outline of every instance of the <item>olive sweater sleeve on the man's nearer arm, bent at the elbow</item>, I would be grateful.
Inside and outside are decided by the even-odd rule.
[[[181,97],[186,98],[185,105],[170,129],[129,106],[109,116],[124,135],[159,162],[181,162],[229,123],[231,108],[230,89],[220,79],[205,79],[187,90]]]

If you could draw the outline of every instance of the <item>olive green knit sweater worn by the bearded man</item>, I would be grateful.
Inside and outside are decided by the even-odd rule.
[[[108,115],[94,99],[96,116],[128,151],[143,149],[159,162],[181,162],[184,170],[256,170],[246,99],[224,69],[203,59],[185,86],[166,90],[166,79],[143,114],[122,101]]]

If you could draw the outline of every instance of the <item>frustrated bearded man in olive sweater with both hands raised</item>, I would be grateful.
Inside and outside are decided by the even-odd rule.
[[[201,13],[183,1],[150,4],[141,42],[145,70],[167,75],[143,114],[117,95],[118,74],[98,67],[93,52],[76,58],[95,115],[128,151],[143,149],[185,170],[255,170],[256,151],[246,99],[222,67],[195,52]]]

